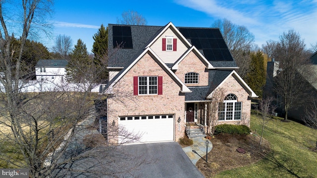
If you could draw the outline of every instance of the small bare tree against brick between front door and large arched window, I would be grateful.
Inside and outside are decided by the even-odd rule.
[[[215,89],[209,99],[208,105],[208,130],[207,133],[214,134],[215,127],[219,124],[218,109],[222,107],[224,99],[224,90],[222,88]]]

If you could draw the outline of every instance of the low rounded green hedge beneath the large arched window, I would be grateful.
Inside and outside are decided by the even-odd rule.
[[[214,134],[250,134],[250,129],[245,125],[222,124],[216,126]]]

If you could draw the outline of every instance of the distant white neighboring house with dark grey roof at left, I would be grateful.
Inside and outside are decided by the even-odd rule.
[[[67,60],[40,59],[35,66],[36,80],[53,84],[62,84],[66,80]]]

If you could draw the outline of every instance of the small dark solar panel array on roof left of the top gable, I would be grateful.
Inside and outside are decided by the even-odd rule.
[[[112,26],[113,48],[133,48],[130,26]]]

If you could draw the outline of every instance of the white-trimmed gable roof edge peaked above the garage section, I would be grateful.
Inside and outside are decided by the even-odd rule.
[[[106,86],[106,92],[111,93],[113,86],[146,54],[150,54],[152,58],[159,64],[159,66],[175,81],[175,83],[181,88],[180,92],[192,92],[186,87],[186,85],[166,66],[166,64],[155,54],[155,52],[147,47],[138,57],[126,68],[122,69]]]

